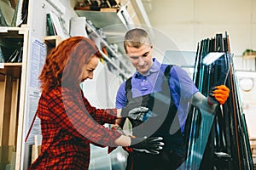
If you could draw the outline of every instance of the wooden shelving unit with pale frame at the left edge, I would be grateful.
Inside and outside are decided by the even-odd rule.
[[[0,68],[0,91],[3,94],[0,96],[0,105],[3,105],[0,109],[0,169],[15,168],[15,159],[19,157],[19,132],[25,105],[27,37],[26,25],[0,27],[0,42],[9,44],[4,48],[14,48],[15,42],[23,42],[22,62],[4,63]]]

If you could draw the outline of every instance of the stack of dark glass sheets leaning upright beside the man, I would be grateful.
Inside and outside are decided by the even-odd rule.
[[[193,106],[187,119],[188,153],[180,169],[253,169],[247,125],[241,108],[229,36],[216,34],[198,43],[193,81],[208,96],[224,84],[230,97],[214,114]]]

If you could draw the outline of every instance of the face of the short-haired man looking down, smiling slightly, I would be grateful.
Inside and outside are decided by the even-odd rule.
[[[126,54],[132,65],[142,75],[145,75],[153,65],[152,48],[152,46],[147,45],[143,45],[140,48],[126,47]]]

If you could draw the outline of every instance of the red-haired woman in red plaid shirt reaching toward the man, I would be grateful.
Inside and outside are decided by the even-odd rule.
[[[103,127],[104,123],[115,122],[117,110],[92,107],[79,87],[80,82],[93,78],[101,57],[96,45],[86,37],[70,37],[47,56],[39,76],[42,94],[37,116],[43,135],[41,154],[29,169],[87,169],[90,143],[137,143]],[[154,139],[154,145],[160,145],[159,141]]]

